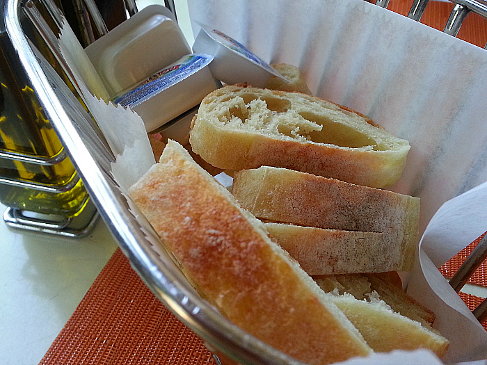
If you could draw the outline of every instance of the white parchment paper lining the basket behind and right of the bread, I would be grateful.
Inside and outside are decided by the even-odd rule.
[[[421,198],[408,293],[436,312],[451,341],[444,362],[487,359],[486,331],[436,269],[487,231],[487,51],[363,0],[189,0],[189,11],[269,63],[298,66],[314,95],[410,141],[392,187]]]

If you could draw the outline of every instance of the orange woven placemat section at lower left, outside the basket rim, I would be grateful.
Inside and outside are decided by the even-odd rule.
[[[211,364],[202,340],[164,307],[118,248],[40,365]]]

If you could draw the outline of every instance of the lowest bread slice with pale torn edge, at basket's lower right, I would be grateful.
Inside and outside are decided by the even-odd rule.
[[[346,291],[351,293],[355,291],[357,293],[357,291],[360,292],[363,289],[363,280],[357,279],[357,277],[350,277],[350,275],[342,276],[347,277],[349,282],[348,287],[344,288]],[[360,275],[358,275],[358,278],[360,278]],[[365,276],[361,278],[366,279]],[[369,293],[365,293],[366,299],[359,300],[351,293],[340,293],[338,288],[341,282],[337,289],[330,290],[330,286],[333,286],[333,284],[330,284],[329,280],[331,280],[331,283],[333,281],[338,282],[337,277],[328,279],[317,277],[315,280],[324,291],[329,291],[330,300],[342,309],[353,325],[360,330],[365,341],[374,351],[390,352],[397,349],[415,350],[417,348],[427,348],[435,352],[439,357],[445,355],[449,341],[436,330],[433,330],[426,321],[422,319],[421,321],[415,321],[403,313],[399,313],[397,308],[392,308],[387,302],[387,300],[391,299],[388,295],[385,295],[387,298],[385,299],[377,291],[369,291]],[[354,280],[356,283],[350,284]],[[404,293],[404,295],[394,298],[396,304],[404,300],[404,303],[399,308],[404,309],[408,307],[408,314],[424,310],[421,307],[412,309],[412,302],[409,299],[404,299],[405,297],[407,295]]]

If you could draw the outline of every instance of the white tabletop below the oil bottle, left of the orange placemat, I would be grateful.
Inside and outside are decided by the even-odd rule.
[[[2,215],[5,209],[0,204]],[[0,220],[1,365],[39,364],[116,247],[101,219],[83,238],[12,229]]]

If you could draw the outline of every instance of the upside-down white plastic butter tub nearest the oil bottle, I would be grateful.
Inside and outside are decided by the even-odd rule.
[[[160,5],[143,8],[85,51],[111,98],[191,54],[173,14]]]

